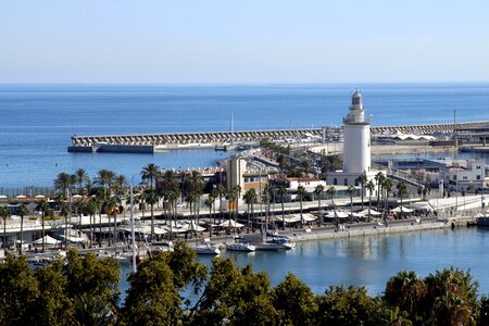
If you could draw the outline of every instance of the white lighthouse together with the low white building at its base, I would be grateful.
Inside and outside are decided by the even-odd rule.
[[[371,167],[371,121],[365,118],[359,90],[353,93],[350,110],[343,118],[343,138],[342,171],[328,173],[327,184],[359,187],[362,174],[375,183],[378,171],[372,171]]]

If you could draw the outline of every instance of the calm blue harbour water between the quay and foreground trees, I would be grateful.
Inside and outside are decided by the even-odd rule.
[[[372,296],[385,290],[387,280],[402,269],[425,277],[450,266],[471,269],[479,283],[479,293],[489,293],[488,228],[455,228],[418,233],[354,237],[297,243],[286,252],[224,252],[243,266],[266,271],[273,286],[287,273],[293,273],[315,293],[330,285],[365,286]],[[199,260],[211,265],[212,258]],[[130,266],[122,266],[121,289],[128,288],[125,277]]]

